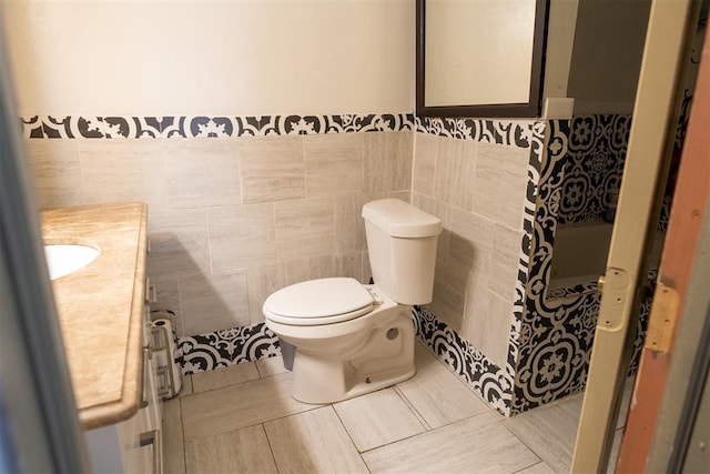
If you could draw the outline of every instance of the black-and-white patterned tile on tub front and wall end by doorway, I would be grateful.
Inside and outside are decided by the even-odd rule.
[[[540,172],[531,263],[526,284],[526,307],[518,341],[511,414],[581,391],[589,370],[601,302],[600,293],[595,291],[596,284],[589,282],[574,289],[548,292],[569,137],[569,121],[549,121],[545,141],[547,154]],[[647,297],[635,339],[636,357],[649,306]],[[636,364],[635,359],[630,372]]]

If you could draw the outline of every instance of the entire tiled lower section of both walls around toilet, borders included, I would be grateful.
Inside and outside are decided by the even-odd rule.
[[[148,202],[155,310],[175,313],[185,373],[276,353],[261,313],[273,291],[367,281],[365,202],[439,216],[418,336],[505,414],[544,130],[402,114],[24,120],[26,137],[52,138],[28,141],[42,206]]]

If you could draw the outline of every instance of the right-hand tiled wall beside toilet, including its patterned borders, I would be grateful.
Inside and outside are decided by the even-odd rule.
[[[412,202],[444,222],[417,336],[510,413],[546,123],[423,119]]]

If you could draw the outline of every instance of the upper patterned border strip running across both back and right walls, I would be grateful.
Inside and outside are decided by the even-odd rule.
[[[413,130],[490,143],[531,147],[530,121],[415,118],[412,113],[257,117],[33,115],[31,139],[225,138]],[[541,123],[541,122],[537,122]]]

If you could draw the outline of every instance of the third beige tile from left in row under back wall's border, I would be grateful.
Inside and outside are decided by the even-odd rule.
[[[235,140],[171,139],[166,143],[171,209],[241,203]]]

